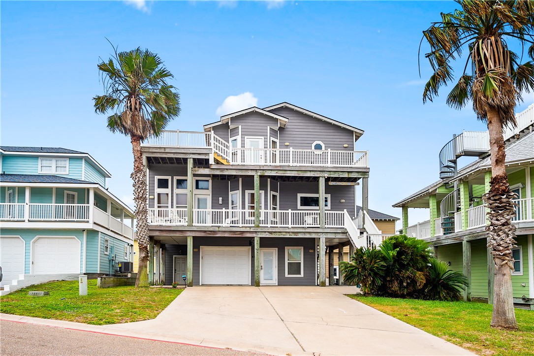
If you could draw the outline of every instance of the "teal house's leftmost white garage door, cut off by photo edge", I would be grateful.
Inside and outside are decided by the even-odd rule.
[[[21,238],[0,237],[0,266],[4,275],[0,287],[24,274],[24,241]]]

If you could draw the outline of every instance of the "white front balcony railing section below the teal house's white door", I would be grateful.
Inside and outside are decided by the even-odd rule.
[[[30,204],[29,220],[89,221],[89,204]]]

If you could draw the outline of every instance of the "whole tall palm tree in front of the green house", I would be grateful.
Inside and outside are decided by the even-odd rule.
[[[534,89],[532,60],[520,64],[525,48],[528,57],[534,59],[534,1],[458,3],[461,9],[442,13],[441,21],[423,31],[421,42],[426,40],[430,45],[425,57],[434,72],[425,86],[423,103],[454,80],[451,62],[467,50],[464,72],[447,96],[447,104],[461,109],[472,101],[477,118],[488,124],[492,177],[484,202],[490,208],[486,230],[495,262],[491,326],[517,329],[511,279],[514,194],[508,186],[502,130],[516,125],[514,107],[522,102],[522,92]],[[509,49],[507,41],[518,45],[521,57]]]

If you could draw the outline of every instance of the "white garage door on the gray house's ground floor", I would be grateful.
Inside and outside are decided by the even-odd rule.
[[[201,247],[202,284],[250,284],[250,247]]]

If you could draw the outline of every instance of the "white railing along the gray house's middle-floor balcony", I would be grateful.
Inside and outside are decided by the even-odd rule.
[[[326,211],[325,227],[345,228],[344,211]],[[193,226],[254,227],[253,210],[193,209]],[[187,209],[148,209],[149,225],[187,226]],[[320,227],[319,211],[260,210],[261,227]]]

